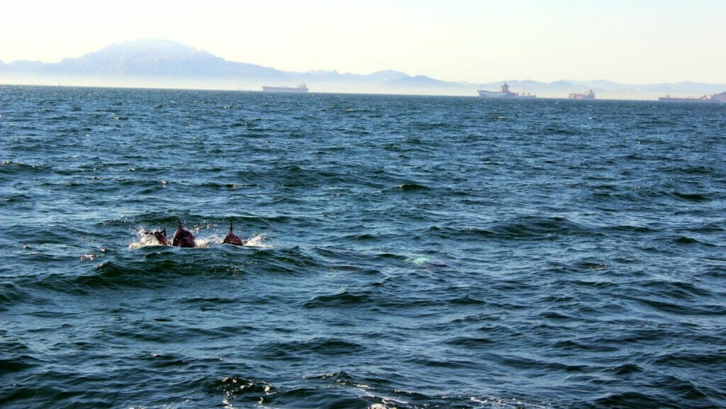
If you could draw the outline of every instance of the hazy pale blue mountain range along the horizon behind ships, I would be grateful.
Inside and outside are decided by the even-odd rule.
[[[482,68],[484,70],[486,68]],[[654,99],[665,94],[700,96],[726,91],[723,84],[679,82],[632,85],[612,81],[506,80],[515,92],[539,97],[567,97],[592,89],[598,99]],[[497,90],[504,81],[489,84],[440,81],[410,76],[395,70],[362,75],[338,71],[286,72],[245,62],[232,62],[184,44],[166,40],[139,40],[114,44],[79,58],[61,62],[0,61],[0,84],[63,84],[260,90],[262,85],[295,86],[311,92],[363,92],[383,94],[441,94],[476,96],[476,90]]]

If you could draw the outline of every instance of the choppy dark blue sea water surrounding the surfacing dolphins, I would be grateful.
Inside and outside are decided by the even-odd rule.
[[[726,407],[726,105],[6,86],[0,138],[2,408]]]

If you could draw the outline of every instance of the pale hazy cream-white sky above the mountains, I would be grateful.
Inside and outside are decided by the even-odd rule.
[[[170,39],[280,70],[726,84],[726,0],[7,1],[0,60]]]

